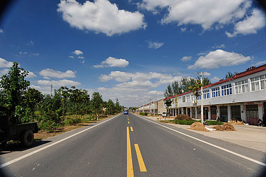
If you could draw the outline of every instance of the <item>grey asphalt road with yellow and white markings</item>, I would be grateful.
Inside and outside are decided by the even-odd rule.
[[[0,168],[6,176],[264,176],[265,153],[146,119],[121,114],[51,137],[1,154]]]

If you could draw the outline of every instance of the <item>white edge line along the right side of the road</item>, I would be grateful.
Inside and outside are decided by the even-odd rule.
[[[138,115],[136,115],[136,116],[138,116]],[[140,118],[142,118],[142,119],[145,119],[145,118],[143,118],[143,117],[141,117],[141,116],[138,116],[138,117],[140,117]],[[187,137],[189,137],[189,138],[192,138],[192,139],[194,139],[194,140],[198,140],[198,141],[200,141],[200,142],[202,142],[202,143],[205,143],[205,144],[207,144],[207,145],[213,146],[213,147],[218,148],[218,149],[220,149],[220,150],[223,150],[223,151],[229,152],[229,153],[231,153],[231,154],[234,154],[234,155],[236,155],[236,156],[239,156],[239,157],[242,157],[242,158],[244,158],[244,159],[250,160],[250,161],[255,162],[255,163],[257,163],[257,164],[260,164],[260,165],[266,166],[266,163],[263,163],[263,162],[260,162],[260,161],[254,160],[254,159],[252,159],[252,158],[249,158],[249,157],[246,157],[246,156],[244,156],[244,155],[241,155],[241,154],[235,153],[235,152],[230,151],[230,150],[228,150],[228,149],[221,148],[221,147],[219,147],[219,146],[216,146],[216,145],[213,145],[213,144],[211,144],[211,143],[205,142],[205,141],[203,141],[203,140],[197,139],[197,138],[195,138],[195,137],[189,136],[189,135],[187,135],[187,134],[184,134],[183,132],[180,132],[180,131],[178,131],[178,130],[175,130],[175,129],[169,128],[169,127],[167,127],[167,126],[161,125],[161,124],[156,123],[156,122],[153,122],[153,121],[151,121],[151,120],[148,120],[148,119],[145,119],[145,120],[150,121],[150,122],[152,122],[152,123],[155,123],[155,124],[157,124],[157,125],[163,126],[163,127],[165,127],[165,128],[168,128],[168,129],[170,129],[170,130],[173,130],[173,131],[175,131],[175,132],[178,132],[179,134],[182,134],[182,135],[187,136]]]

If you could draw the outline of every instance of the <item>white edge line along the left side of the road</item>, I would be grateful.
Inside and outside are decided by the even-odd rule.
[[[120,115],[120,114],[119,114],[119,115]],[[26,157],[28,157],[28,156],[30,156],[30,155],[32,155],[32,154],[35,154],[35,153],[37,153],[37,152],[40,152],[40,151],[42,151],[42,150],[44,150],[44,149],[47,149],[47,148],[49,148],[49,147],[51,147],[51,146],[54,146],[54,145],[56,145],[56,144],[58,144],[58,143],[60,143],[60,142],[62,142],[62,141],[65,141],[65,140],[67,140],[67,139],[69,139],[69,138],[71,138],[71,137],[74,137],[74,136],[76,136],[76,135],[78,135],[78,134],[81,134],[82,132],[84,132],[84,131],[86,131],[86,130],[89,130],[89,129],[94,128],[94,127],[96,127],[96,126],[98,126],[98,125],[101,125],[102,123],[105,123],[105,122],[107,122],[107,121],[109,121],[109,120],[112,120],[113,118],[115,118],[115,117],[117,117],[117,116],[119,116],[119,115],[116,115],[116,116],[114,116],[114,117],[112,117],[112,118],[110,118],[110,119],[108,119],[108,120],[106,120],[106,121],[104,121],[104,122],[101,122],[101,123],[96,124],[96,125],[94,125],[94,126],[92,126],[92,127],[90,127],[90,128],[87,128],[87,129],[84,129],[84,130],[82,130],[82,131],[79,131],[79,132],[77,132],[77,133],[74,134],[74,135],[71,135],[71,136],[69,136],[69,137],[67,137],[67,138],[64,138],[64,139],[62,139],[62,140],[59,140],[59,141],[57,141],[57,142],[55,142],[55,143],[52,143],[52,144],[50,144],[50,145],[47,145],[47,146],[45,146],[45,147],[42,147],[42,148],[37,149],[37,150],[35,150],[35,151],[32,151],[32,152],[30,152],[30,153],[28,153],[28,154],[25,154],[25,155],[23,155],[23,156],[21,156],[21,157],[18,157],[18,158],[16,158],[16,159],[14,159],[14,160],[11,160],[11,161],[9,161],[9,162],[3,163],[3,164],[0,165],[0,168],[3,168],[3,167],[5,167],[5,166],[7,166],[7,165],[10,165],[10,164],[14,163],[14,162],[17,162],[17,161],[19,161],[19,160],[21,160],[21,159],[24,159],[24,158],[26,158]]]

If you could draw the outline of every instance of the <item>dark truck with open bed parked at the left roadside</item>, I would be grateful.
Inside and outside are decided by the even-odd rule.
[[[34,142],[33,133],[38,132],[37,122],[10,124],[8,108],[0,106],[0,145],[5,146],[10,140],[19,140],[25,147]]]

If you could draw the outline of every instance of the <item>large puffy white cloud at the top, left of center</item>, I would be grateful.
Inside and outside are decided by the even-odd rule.
[[[139,12],[119,10],[116,4],[107,0],[86,1],[79,4],[75,0],[58,4],[58,12],[72,27],[81,30],[102,32],[108,36],[121,34],[131,30],[146,28],[144,15]]]

